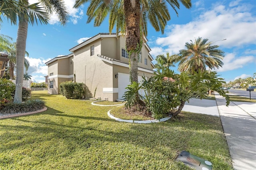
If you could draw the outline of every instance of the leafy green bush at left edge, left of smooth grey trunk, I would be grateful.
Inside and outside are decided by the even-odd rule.
[[[0,79],[0,103],[12,101],[15,91],[15,84],[7,79]]]

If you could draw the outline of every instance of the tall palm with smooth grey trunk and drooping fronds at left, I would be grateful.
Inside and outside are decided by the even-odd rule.
[[[19,0],[19,2],[20,1],[21,0]],[[18,24],[16,40],[17,76],[14,103],[22,102],[22,86],[20,84],[22,84],[24,76],[24,58],[26,51],[26,39],[28,34],[28,23],[33,25],[35,20],[37,24],[37,20],[39,20],[41,24],[47,24],[48,20],[50,19],[49,14],[52,14],[53,11],[57,13],[62,24],[66,24],[68,20],[68,12],[64,6],[64,1],[62,0],[39,0],[44,8],[35,8],[39,3],[29,5],[28,0],[22,0],[22,2],[25,2],[27,9],[20,10],[22,15],[19,17]],[[31,6],[34,7],[31,8]],[[37,9],[37,11],[34,11],[34,9]],[[46,10],[46,12],[44,10]],[[38,19],[36,17],[38,17]]]

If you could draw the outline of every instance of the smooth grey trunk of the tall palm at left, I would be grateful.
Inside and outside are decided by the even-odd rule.
[[[28,35],[28,21],[20,20],[16,40],[16,88],[14,103],[22,103],[22,84],[24,77],[24,60],[26,51],[26,40]]]

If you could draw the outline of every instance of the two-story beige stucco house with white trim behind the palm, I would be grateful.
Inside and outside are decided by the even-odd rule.
[[[139,54],[138,80],[154,75],[150,47],[144,38]],[[48,65],[48,93],[59,94],[64,81],[85,83],[92,97],[116,101],[122,99],[129,82],[129,61],[125,36],[99,33],[70,49],[69,55],[55,57]]]

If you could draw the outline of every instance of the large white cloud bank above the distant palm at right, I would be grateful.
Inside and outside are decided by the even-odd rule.
[[[194,42],[198,37],[208,38],[210,42],[226,38],[216,44],[227,48],[255,44],[256,18],[246,11],[248,8],[245,5],[233,8],[215,6],[188,24],[167,26],[167,36],[157,38],[156,44],[167,46],[172,53],[178,53],[186,42]]]

